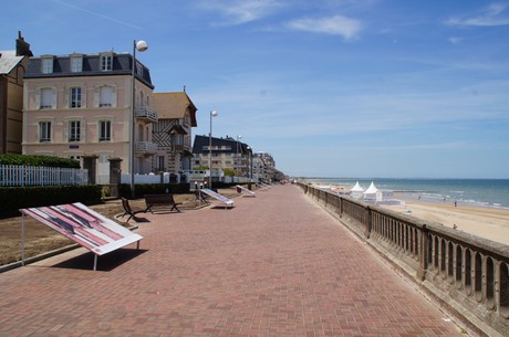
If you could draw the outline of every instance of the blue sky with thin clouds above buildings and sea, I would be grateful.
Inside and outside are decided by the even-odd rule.
[[[509,1],[17,0],[35,55],[132,52],[288,175],[509,178]]]

